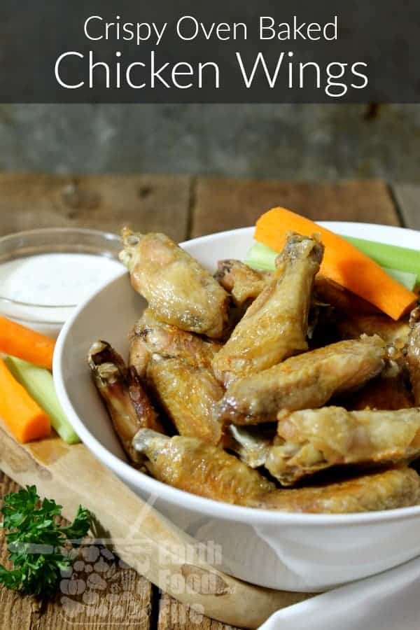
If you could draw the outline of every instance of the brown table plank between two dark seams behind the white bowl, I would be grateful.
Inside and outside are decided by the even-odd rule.
[[[318,221],[399,225],[388,186],[379,180],[315,184],[200,178],[191,235],[253,225],[262,212],[274,206]]]

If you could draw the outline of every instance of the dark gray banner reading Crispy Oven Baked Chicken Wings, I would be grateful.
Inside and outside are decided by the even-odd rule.
[[[419,0],[3,0],[0,102],[420,102]]]

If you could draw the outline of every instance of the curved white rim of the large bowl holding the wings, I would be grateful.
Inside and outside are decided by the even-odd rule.
[[[410,230],[409,228],[401,228],[399,226],[393,225],[379,225],[376,223],[360,223],[360,222],[349,222],[349,221],[318,221],[319,225],[325,226],[325,228],[330,228],[334,230],[338,227],[344,227],[348,225],[350,227],[356,225],[363,225],[365,228],[388,228],[392,232],[400,231],[400,232],[411,232],[412,235],[419,235],[419,232],[416,230]],[[250,228],[237,228],[236,230],[225,230],[223,232],[215,232],[211,235],[206,235],[203,237],[197,237],[195,239],[190,239],[188,241],[183,241],[180,243],[181,246],[190,245],[193,241],[195,244],[200,245],[201,243],[206,243],[209,240],[225,236],[234,237],[238,235],[239,232],[244,234],[249,234],[254,227]],[[88,297],[84,302],[82,302],[77,309],[71,314],[70,318],[64,324],[62,331],[59,334],[57,339],[57,344],[55,346],[54,360],[53,360],[53,374],[55,386],[57,388],[57,395],[59,400],[64,407],[64,412],[69,417],[69,421],[73,425],[73,428],[78,433],[80,439],[85,443],[85,445],[93,452],[95,456],[99,458],[102,463],[107,465],[113,472],[118,475],[123,481],[127,484],[130,484],[132,487],[139,487],[141,491],[144,493],[150,493],[151,496],[156,496],[162,500],[167,501],[172,505],[176,505],[178,507],[185,507],[188,510],[192,510],[193,512],[201,512],[202,514],[206,514],[210,517],[222,518],[227,521],[236,521],[236,522],[246,522],[247,524],[251,524],[254,526],[260,525],[283,525],[283,526],[304,526],[311,525],[315,527],[323,527],[328,525],[335,526],[351,526],[358,524],[370,524],[376,522],[389,522],[395,520],[405,520],[410,519],[412,517],[420,516],[420,505],[414,505],[411,507],[398,507],[393,510],[378,510],[377,512],[353,512],[351,514],[309,514],[306,512],[280,512],[277,510],[264,510],[258,507],[243,507],[241,505],[232,505],[230,503],[224,503],[223,501],[216,501],[214,499],[205,498],[202,496],[195,495],[193,493],[189,493],[184,490],[180,490],[169,486],[163,482],[158,481],[158,479],[153,479],[153,477],[149,477],[145,475],[140,470],[136,470],[135,468],[127,463],[127,461],[123,461],[118,456],[114,455],[104,447],[102,442],[97,440],[90,430],[88,430],[80,419],[78,414],[76,413],[73,405],[71,404],[71,400],[69,399],[69,395],[67,394],[66,387],[64,385],[64,379],[62,377],[61,365],[64,360],[63,351],[64,344],[66,343],[67,336],[71,333],[71,328],[75,323],[78,315],[80,314],[85,307],[94,300],[99,293],[103,290],[106,290],[112,283],[119,282],[121,277],[125,275],[125,272],[122,272],[121,276],[118,276],[116,279],[113,279],[111,282],[106,283],[102,287],[100,287],[97,291],[95,291],[90,297]],[[99,455],[98,455],[98,454]]]

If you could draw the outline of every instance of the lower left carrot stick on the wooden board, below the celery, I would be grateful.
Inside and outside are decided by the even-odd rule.
[[[12,376],[0,358],[0,418],[19,442],[50,435],[50,419]]]

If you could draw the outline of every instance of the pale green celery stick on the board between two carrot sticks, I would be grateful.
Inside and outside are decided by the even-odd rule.
[[[80,442],[59,404],[51,372],[14,356],[7,356],[5,361],[15,379],[50,417],[52,426],[64,442],[67,444]]]

